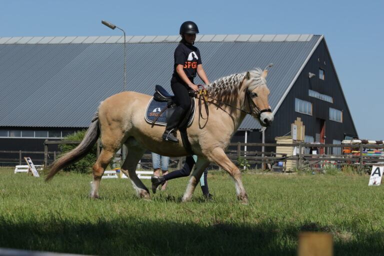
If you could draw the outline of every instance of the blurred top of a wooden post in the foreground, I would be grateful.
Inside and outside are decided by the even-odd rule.
[[[300,232],[298,256],[332,256],[333,235],[326,232]]]

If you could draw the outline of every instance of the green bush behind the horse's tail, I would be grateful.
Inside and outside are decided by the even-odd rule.
[[[85,136],[86,130],[77,131],[76,133],[69,134],[65,136],[62,140],[82,140]],[[61,155],[66,152],[69,152],[73,148],[75,148],[78,144],[60,144]],[[74,171],[79,173],[89,173],[91,171],[91,167],[96,161],[96,153],[97,153],[97,143],[95,143],[92,149],[86,154],[83,158],[78,160],[77,162],[65,167],[64,171]]]

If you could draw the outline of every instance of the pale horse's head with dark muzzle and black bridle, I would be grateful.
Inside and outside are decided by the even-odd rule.
[[[260,68],[246,72],[243,85],[246,88],[245,104],[252,116],[256,118],[262,126],[269,126],[273,121],[273,114],[268,104],[270,93],[266,87],[265,77],[267,70]]]

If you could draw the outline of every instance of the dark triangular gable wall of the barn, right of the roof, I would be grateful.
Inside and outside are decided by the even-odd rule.
[[[319,79],[319,68],[324,69],[324,80]],[[315,76],[309,78],[309,72],[314,73]],[[345,85],[344,88],[347,88],[347,85]],[[333,97],[333,103],[310,97],[308,95],[308,89]],[[271,93],[273,93],[273,91]],[[296,97],[312,102],[312,115],[294,111]],[[342,110],[342,123],[329,120],[329,107]],[[344,133],[357,135],[324,40],[322,40],[314,50],[312,56],[283,100],[274,116],[272,126],[266,129],[265,142],[275,142],[274,138],[276,136],[283,136],[289,133],[291,129],[290,125],[297,117],[300,117],[305,125],[305,135],[313,137],[315,137],[316,118],[324,119],[325,143],[332,143],[333,139],[342,140]]]

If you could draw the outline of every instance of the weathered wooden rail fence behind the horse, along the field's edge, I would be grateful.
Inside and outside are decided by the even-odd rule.
[[[71,143],[78,144],[80,141],[62,141],[54,140],[49,141],[45,140],[44,142],[44,151],[0,151],[0,153],[13,153],[18,154],[18,157],[15,158],[0,158],[1,161],[8,161],[21,164],[23,162],[23,156],[29,156],[25,154],[39,154],[43,156],[41,158],[34,158],[36,162],[43,162],[44,164],[50,164],[59,153],[57,151],[48,151],[48,145],[50,144],[62,144],[62,143]],[[99,143],[99,142],[98,142]],[[259,148],[260,150],[246,150],[249,147]],[[278,153],[275,152],[277,147],[289,147],[291,148],[291,154],[287,153]],[[326,153],[317,153],[317,154],[308,154],[305,153],[305,148],[317,147],[322,148]],[[271,148],[270,151],[261,151],[261,148]],[[294,153],[294,148],[296,148],[297,153]],[[342,148],[354,148],[358,153],[354,154],[331,154],[333,148],[338,148],[342,152]],[[229,159],[238,164],[239,162],[245,162],[250,164],[252,168],[262,168],[262,169],[273,169],[273,170],[293,170],[295,168],[311,168],[313,170],[319,170],[324,168],[324,166],[329,166],[329,164],[336,165],[337,167],[342,167],[343,165],[352,165],[360,169],[367,167],[373,164],[380,164],[384,162],[384,155],[365,155],[364,150],[369,148],[384,148],[384,145],[377,144],[310,144],[310,143],[230,143],[226,154]],[[97,147],[97,154],[100,152],[100,147]],[[285,150],[286,152],[286,150]],[[119,157],[120,154],[115,155]],[[181,168],[182,160],[184,157],[171,157],[171,164],[175,168]],[[290,161],[290,166],[287,167],[287,163]],[[151,154],[144,154],[141,159],[141,164],[143,167],[151,168]],[[214,168],[214,164],[211,167]],[[217,166],[216,166],[217,167]]]

